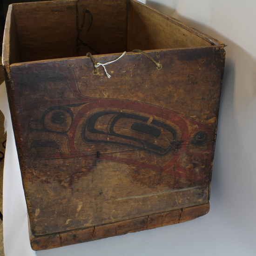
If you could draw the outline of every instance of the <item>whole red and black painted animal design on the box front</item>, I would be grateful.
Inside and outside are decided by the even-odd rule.
[[[86,97],[61,72],[34,75],[41,96],[24,111],[25,157],[98,158],[195,181],[210,168],[215,131],[208,125],[143,102]]]

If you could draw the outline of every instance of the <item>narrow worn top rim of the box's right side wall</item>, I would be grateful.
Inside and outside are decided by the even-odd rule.
[[[223,42],[221,42],[221,41],[219,41],[219,40],[217,40],[217,39],[215,39],[215,38],[213,38],[213,37],[211,37],[211,36],[209,36],[209,35],[207,35],[207,34],[202,33],[201,31],[195,29],[194,27],[189,26],[188,24],[186,24],[186,23],[184,23],[184,22],[182,22],[182,21],[180,21],[180,20],[177,20],[177,19],[175,19],[175,18],[173,18],[173,17],[171,17],[171,16],[169,16],[169,15],[167,15],[167,14],[164,14],[164,13],[158,11],[158,10],[155,9],[154,7],[151,7],[151,6],[148,6],[148,5],[146,5],[146,4],[143,4],[143,3],[141,3],[141,2],[139,2],[139,1],[137,1],[137,0],[131,0],[131,1],[133,1],[133,2],[135,2],[135,3],[137,3],[137,4],[139,4],[139,5],[145,6],[145,7],[147,7],[148,9],[151,9],[151,10],[155,11],[156,13],[158,13],[159,15],[161,15],[163,18],[172,21],[175,25],[177,25],[177,26],[179,26],[179,27],[182,27],[182,28],[188,30],[189,32],[191,32],[191,33],[193,33],[193,34],[195,34],[195,35],[201,37],[202,39],[208,41],[209,43],[211,43],[211,44],[213,44],[213,45],[215,45],[215,46],[221,46],[221,45],[225,46],[225,44],[224,44]]]

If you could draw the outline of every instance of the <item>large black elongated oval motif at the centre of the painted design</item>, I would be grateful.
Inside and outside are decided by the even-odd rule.
[[[107,127],[95,128],[97,122],[105,119],[108,120]],[[128,123],[122,125],[122,119]],[[128,120],[128,121],[127,121]],[[147,122],[149,118],[147,116],[136,115],[132,113],[118,112],[118,111],[101,111],[91,115],[83,126],[82,139],[88,143],[107,143],[127,146],[135,149],[142,149],[155,155],[164,156],[167,155],[172,148],[179,144],[177,141],[177,132],[175,128],[169,126],[162,121],[153,119],[150,124]],[[123,127],[122,127],[123,126]],[[127,127],[130,127],[130,131],[133,131],[137,136],[130,136],[126,133]],[[156,127],[155,127],[156,126]],[[123,130],[122,130],[123,128]],[[115,130],[121,129],[121,132],[115,132]],[[172,140],[168,140],[165,137],[165,146],[159,146],[157,143],[152,143],[152,140],[145,140],[142,138],[153,137],[159,138],[163,133],[172,135]],[[141,135],[140,135],[141,134]],[[106,139],[95,138],[94,135],[107,135]],[[146,136],[142,136],[146,135]],[[103,136],[104,137],[104,136]],[[108,137],[108,139],[107,139]],[[110,138],[110,140],[109,140]],[[153,140],[154,141],[154,140]]]

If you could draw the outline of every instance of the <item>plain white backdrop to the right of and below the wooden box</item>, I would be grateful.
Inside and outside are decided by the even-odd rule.
[[[228,45],[210,212],[190,222],[39,251],[37,256],[256,255],[256,1],[147,4]]]

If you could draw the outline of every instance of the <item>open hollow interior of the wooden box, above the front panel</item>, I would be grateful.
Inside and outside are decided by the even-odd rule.
[[[9,64],[215,44],[134,0],[21,3],[10,16]]]

